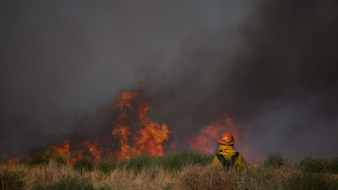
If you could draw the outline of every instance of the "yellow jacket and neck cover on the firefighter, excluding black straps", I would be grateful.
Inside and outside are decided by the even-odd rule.
[[[218,151],[217,155],[222,155],[225,158],[225,160],[230,161],[231,157],[234,156],[235,153],[236,153],[236,151],[235,151],[235,148],[233,146],[219,144],[219,151]],[[219,161],[219,159],[217,158],[217,155],[214,157],[214,159],[212,161],[212,165],[214,165],[216,167],[223,168],[223,165]],[[236,165],[237,173],[240,173],[240,172],[247,173],[248,172],[246,164],[245,164],[245,160],[240,153],[239,153],[238,158],[235,162],[235,165]]]

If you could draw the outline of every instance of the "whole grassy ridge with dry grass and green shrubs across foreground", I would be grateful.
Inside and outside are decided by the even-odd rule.
[[[27,190],[174,190],[174,189],[338,189],[338,159],[305,157],[298,163],[270,153],[248,174],[211,166],[213,155],[182,150],[166,156],[147,153],[115,163],[84,157],[69,164],[70,155],[43,152],[31,160],[0,165],[0,189]]]

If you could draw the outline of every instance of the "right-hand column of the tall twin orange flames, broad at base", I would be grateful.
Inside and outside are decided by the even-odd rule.
[[[146,150],[153,156],[164,155],[162,143],[169,139],[169,130],[167,125],[151,121],[146,117],[149,106],[146,103],[141,105],[140,124],[144,128],[140,129],[134,136],[136,140],[135,148],[137,151]]]

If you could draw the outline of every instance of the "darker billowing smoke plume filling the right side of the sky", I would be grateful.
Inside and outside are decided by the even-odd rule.
[[[177,144],[227,112],[263,155],[337,157],[338,3],[261,3],[236,31],[192,32],[170,68],[150,63],[137,87]]]

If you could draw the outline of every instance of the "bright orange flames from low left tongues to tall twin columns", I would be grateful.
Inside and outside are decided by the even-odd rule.
[[[130,127],[129,125],[127,125],[129,119],[128,116],[134,110],[132,105],[136,102],[136,98],[139,95],[139,93],[121,92],[121,95],[122,97],[116,97],[114,99],[114,104],[111,105],[112,109],[118,109],[119,111],[121,111],[121,113],[113,121],[113,130],[112,130],[112,135],[116,140],[119,141],[117,147],[120,150],[112,154],[113,152],[108,152],[109,149],[99,148],[97,140],[95,143],[84,141],[82,143],[84,148],[90,152],[90,155],[91,157],[93,157],[95,162],[100,161],[104,153],[105,155],[116,156],[116,159],[118,161],[128,159],[130,156],[141,152],[141,147],[145,147],[146,144],[149,144],[145,147],[146,151],[153,153],[153,155],[163,155],[161,143],[164,140],[167,140],[168,137],[163,135],[159,136],[156,135],[155,133],[160,134],[161,130],[164,130],[163,133],[168,133],[167,126],[164,124],[159,125],[158,123],[152,122],[151,120],[146,118],[145,114],[148,108],[146,110],[143,109],[144,112],[140,112],[141,125],[146,127],[144,129],[141,129],[140,132],[136,132],[136,134],[138,135],[134,136],[134,139],[137,139],[139,142],[135,144],[135,147],[131,147],[128,145],[128,138],[129,136],[132,135],[132,133],[130,132]],[[103,104],[98,105],[97,109],[100,109],[102,106]],[[145,137],[143,137],[143,135],[145,135]],[[114,147],[115,145],[112,143],[112,146]],[[54,150],[58,153],[66,154],[70,151],[69,141],[66,140],[62,145],[54,145],[48,148],[47,150]],[[84,152],[83,150],[74,151],[73,155],[77,154],[77,157],[73,156],[70,159],[70,163],[74,163],[77,159],[81,158],[83,152]]]

